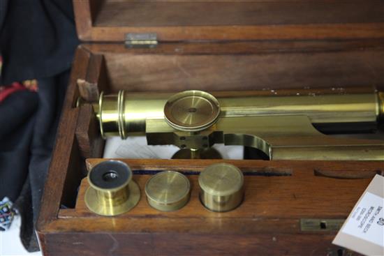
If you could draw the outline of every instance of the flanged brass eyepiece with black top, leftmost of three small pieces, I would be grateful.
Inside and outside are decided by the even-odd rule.
[[[131,168],[121,161],[106,160],[88,174],[85,192],[88,209],[102,216],[117,216],[133,209],[140,199],[140,188],[132,180]]]

